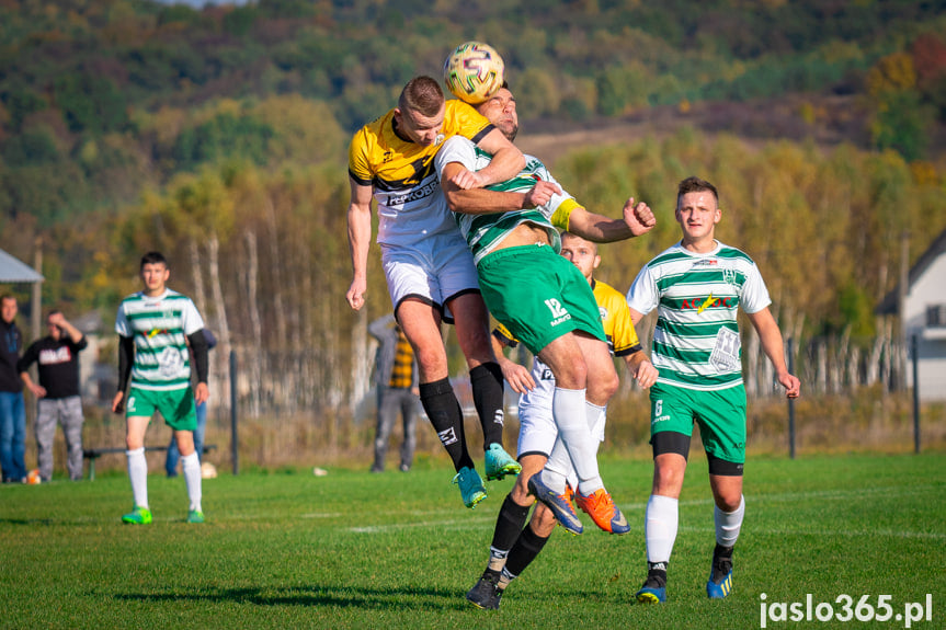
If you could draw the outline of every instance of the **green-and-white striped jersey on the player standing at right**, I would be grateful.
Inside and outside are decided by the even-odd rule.
[[[739,307],[754,313],[772,300],[752,259],[717,242],[706,254],[680,243],[662,252],[637,275],[627,303],[642,314],[658,309],[658,382],[709,391],[742,382]]]

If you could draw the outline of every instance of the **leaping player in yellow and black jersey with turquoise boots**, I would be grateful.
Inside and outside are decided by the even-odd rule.
[[[474,507],[486,499],[486,489],[467,451],[463,412],[448,380],[442,321],[456,325],[470,369],[487,479],[515,474],[520,465],[502,447],[502,373],[476,267],[434,170],[436,152],[455,135],[495,157],[489,169],[452,181],[461,190],[504,181],[525,164],[499,129],[466,103],[445,101],[430,77],[412,79],[397,107],[355,133],[349,149],[347,213],[353,277],[345,298],[355,310],[365,303],[374,197],[381,263],[395,316],[417,355],[421,403],[454,462],[464,504]]]

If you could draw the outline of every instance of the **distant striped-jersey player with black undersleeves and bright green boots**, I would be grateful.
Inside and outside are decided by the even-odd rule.
[[[174,429],[181,450],[181,468],[187,485],[187,523],[203,523],[201,506],[201,460],[194,450],[197,417],[194,405],[205,402],[207,389],[207,342],[204,320],[191,298],[166,286],[171,271],[160,252],[141,256],[144,289],[126,297],[118,307],[118,391],[112,411],[125,410],[128,448],[128,479],[135,506],[122,523],[151,523],[148,505],[148,461],[145,432],[156,411]],[[190,345],[190,351],[187,346]],[[197,387],[191,389],[191,354],[197,371]],[[125,398],[130,377],[132,387]]]

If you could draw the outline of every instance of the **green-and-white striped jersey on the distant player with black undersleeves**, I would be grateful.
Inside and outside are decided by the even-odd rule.
[[[191,298],[171,289],[158,297],[144,293],[122,300],[115,332],[135,340],[132,387],[174,391],[191,385],[187,335],[204,328]]]

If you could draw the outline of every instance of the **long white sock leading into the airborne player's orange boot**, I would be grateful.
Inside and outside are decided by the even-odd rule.
[[[604,488],[604,482],[597,471],[597,440],[588,429],[584,394],[583,389],[555,388],[551,414],[558,427],[558,437],[565,444],[578,474],[578,490],[589,495]]]

